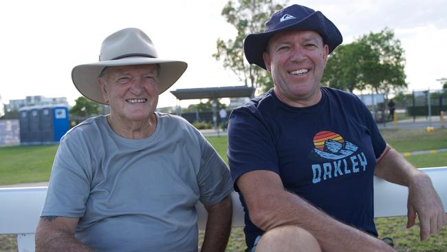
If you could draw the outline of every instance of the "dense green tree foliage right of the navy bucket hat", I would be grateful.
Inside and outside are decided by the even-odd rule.
[[[388,94],[406,87],[405,55],[394,32],[385,28],[353,43],[340,45],[329,56],[323,83],[353,92],[366,88]]]

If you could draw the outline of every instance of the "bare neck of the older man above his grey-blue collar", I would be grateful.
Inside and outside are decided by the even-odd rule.
[[[113,129],[113,132],[123,138],[143,139],[148,138],[155,132],[155,128],[157,127],[157,116],[153,113],[149,118],[145,118],[144,120],[124,121],[118,116],[108,114],[107,122],[111,129]]]

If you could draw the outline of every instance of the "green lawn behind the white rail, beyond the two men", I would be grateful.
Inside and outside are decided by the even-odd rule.
[[[447,148],[447,129],[436,129],[435,132],[384,129],[382,134],[386,142],[400,152]],[[228,163],[226,136],[207,139]],[[0,147],[0,185],[47,181],[56,149],[57,145]],[[446,166],[447,152],[408,156],[407,160],[415,167]]]

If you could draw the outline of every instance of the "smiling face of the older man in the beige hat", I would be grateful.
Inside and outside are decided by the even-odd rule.
[[[99,82],[111,116],[123,122],[148,119],[158,103],[157,74],[156,65],[109,67]]]

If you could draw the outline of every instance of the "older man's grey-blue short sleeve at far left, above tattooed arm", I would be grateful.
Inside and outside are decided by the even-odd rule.
[[[76,133],[70,132],[61,139],[41,216],[79,218],[85,213],[90,191],[86,169],[91,163],[87,148]]]

